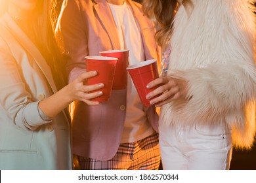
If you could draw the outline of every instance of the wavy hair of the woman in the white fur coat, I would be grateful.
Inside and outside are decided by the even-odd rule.
[[[187,12],[192,9],[193,4],[191,0],[183,0],[182,5]],[[142,9],[144,14],[148,16],[156,25],[158,31],[156,32],[156,41],[163,50],[169,44],[172,33],[173,18],[179,8],[176,0],[143,0]]]

